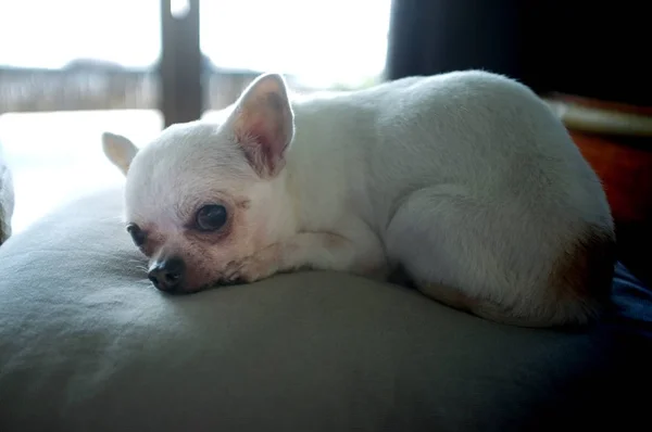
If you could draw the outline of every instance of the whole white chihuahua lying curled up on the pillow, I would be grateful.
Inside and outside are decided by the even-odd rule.
[[[218,117],[140,149],[102,136],[158,289],[400,271],[436,301],[509,325],[584,325],[603,309],[615,264],[606,195],[525,85],[459,71],[290,98],[266,73]]]

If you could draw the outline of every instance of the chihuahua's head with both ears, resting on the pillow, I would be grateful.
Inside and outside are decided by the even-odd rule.
[[[102,137],[126,176],[126,230],[160,290],[202,290],[271,242],[269,209],[284,193],[276,180],[294,134],[285,80],[258,77],[224,114],[173,125],[142,149]]]

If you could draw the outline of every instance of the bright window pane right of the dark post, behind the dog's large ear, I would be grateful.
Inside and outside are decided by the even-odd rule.
[[[390,0],[200,1],[209,110],[233,103],[260,73],[294,91],[362,88],[381,79]]]

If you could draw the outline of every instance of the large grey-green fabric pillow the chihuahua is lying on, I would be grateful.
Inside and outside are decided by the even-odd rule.
[[[327,272],[165,295],[138,267],[120,208],[121,192],[106,191],[0,247],[0,431],[505,432],[632,421],[611,332],[494,325]]]

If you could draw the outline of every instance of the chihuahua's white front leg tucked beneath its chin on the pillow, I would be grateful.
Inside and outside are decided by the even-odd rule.
[[[277,272],[301,269],[344,271],[369,277],[387,276],[381,243],[373,234],[354,238],[328,232],[301,232],[274,243],[240,262],[229,263],[226,281],[253,282]]]

